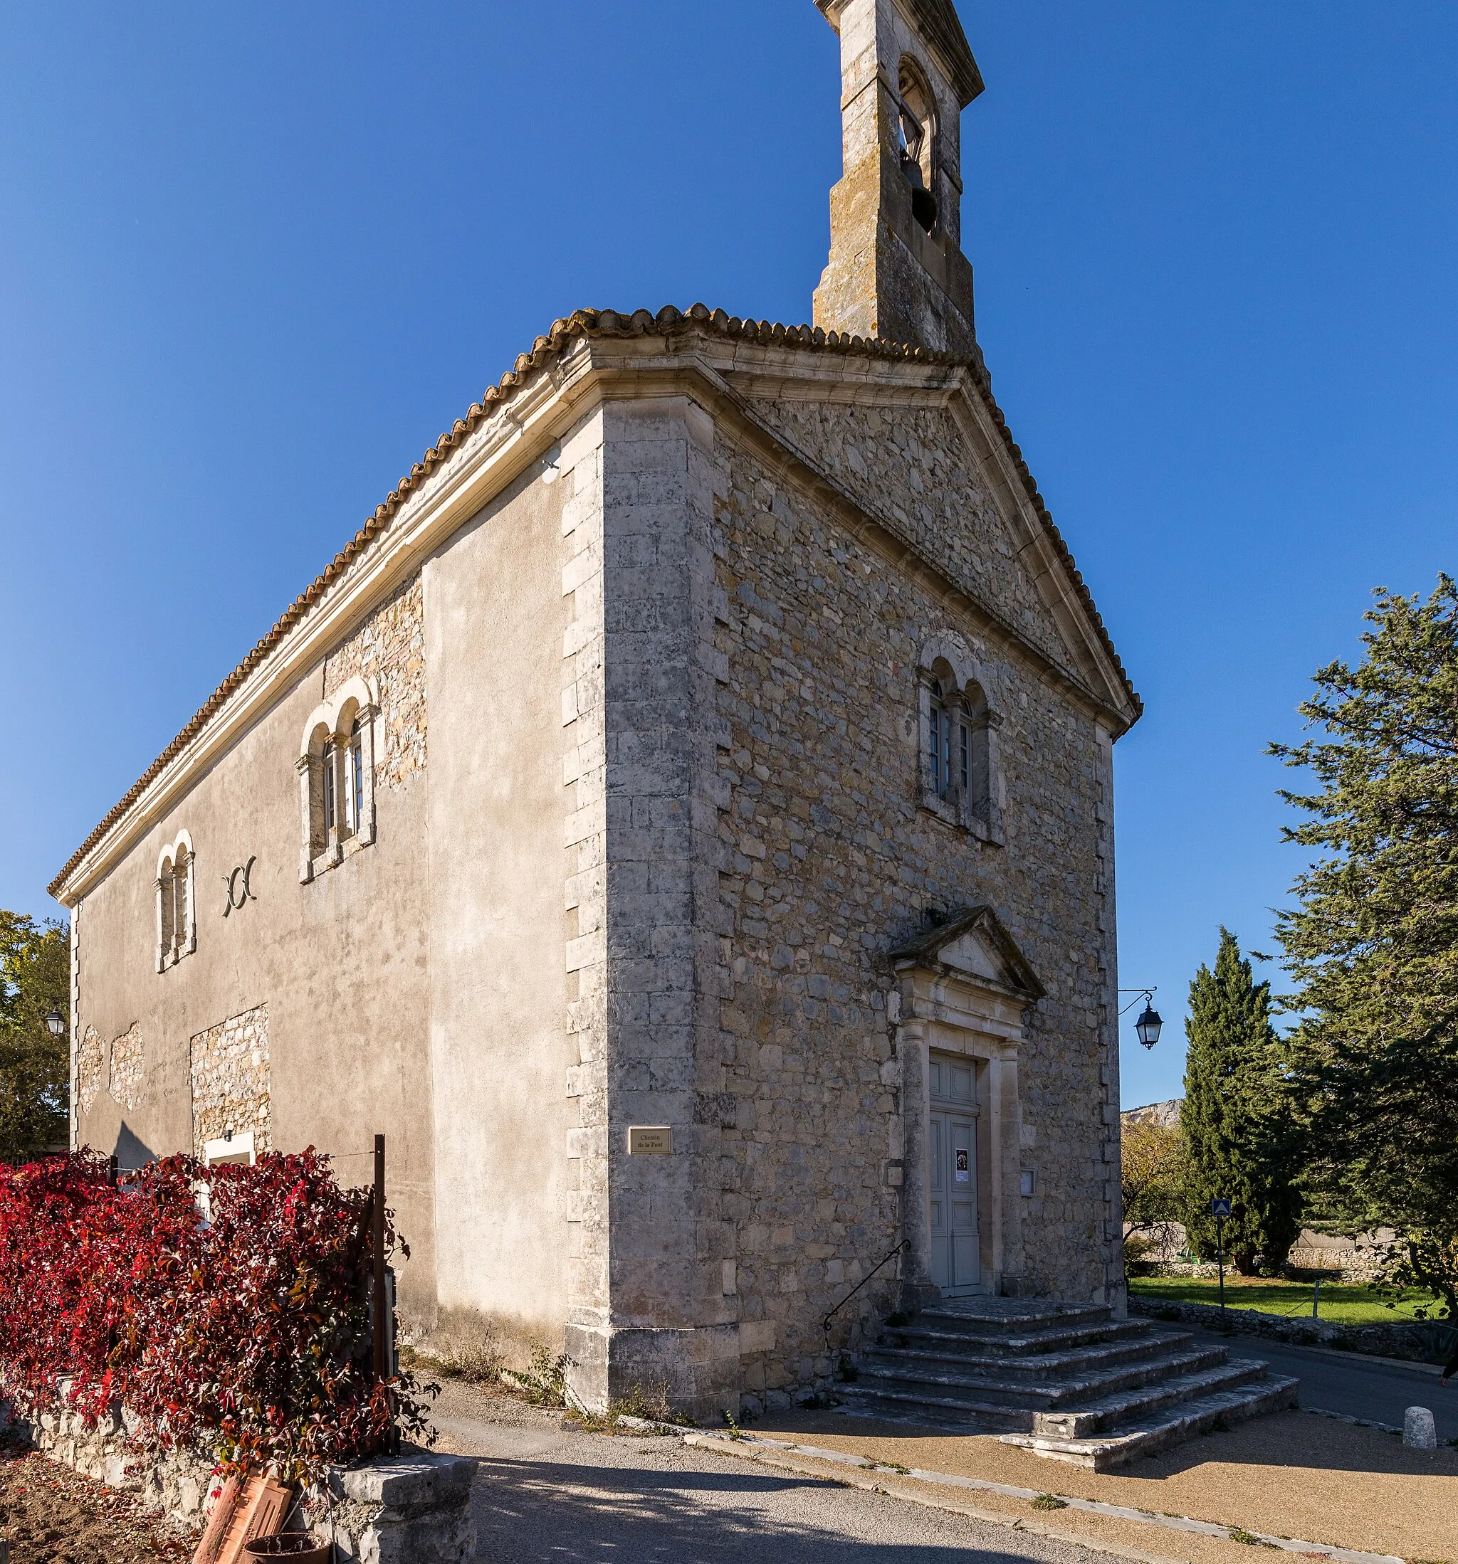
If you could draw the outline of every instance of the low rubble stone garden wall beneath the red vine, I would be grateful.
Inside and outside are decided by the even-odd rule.
[[[138,1419],[114,1406],[94,1428],[63,1406],[34,1420],[0,1397],[0,1433],[27,1439],[52,1461],[108,1487],[136,1494],[152,1512],[200,1526],[213,1458],[203,1451],[145,1450]],[[471,1481],[465,1456],[411,1450],[347,1470],[330,1469],[324,1489],[303,1498],[308,1530],[333,1541],[336,1564],[468,1564],[476,1558]]]

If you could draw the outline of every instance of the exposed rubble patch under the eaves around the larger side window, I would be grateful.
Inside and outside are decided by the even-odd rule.
[[[324,698],[355,674],[379,682],[383,743],[375,787],[404,787],[426,769],[426,602],[416,572],[324,663]]]

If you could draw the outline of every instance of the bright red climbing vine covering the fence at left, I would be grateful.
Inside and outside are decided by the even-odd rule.
[[[368,1218],[314,1151],[164,1157],[120,1187],[89,1151],[0,1165],[3,1389],[88,1422],[120,1403],[145,1442],[289,1481],[421,1434],[419,1384],[371,1372]],[[388,1214],[386,1247],[408,1253]]]

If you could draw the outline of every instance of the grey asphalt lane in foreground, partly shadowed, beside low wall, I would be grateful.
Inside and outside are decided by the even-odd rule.
[[[513,1564],[1109,1564],[1106,1553],[676,1439],[563,1428],[562,1414],[447,1384],[438,1450],[490,1456],[472,1489],[477,1559]]]

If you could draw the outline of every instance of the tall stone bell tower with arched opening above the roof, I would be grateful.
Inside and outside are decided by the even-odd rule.
[[[953,0],[815,0],[840,34],[845,170],[815,324],[976,353],[961,113],[982,77]]]

